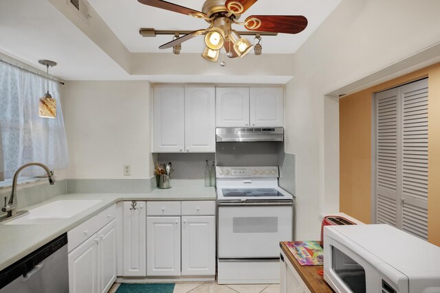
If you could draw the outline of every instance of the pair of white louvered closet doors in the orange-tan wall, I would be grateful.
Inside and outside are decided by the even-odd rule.
[[[376,222],[428,239],[428,80],[375,98]]]

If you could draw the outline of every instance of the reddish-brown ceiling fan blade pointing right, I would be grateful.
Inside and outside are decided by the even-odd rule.
[[[248,30],[298,34],[307,27],[307,19],[301,15],[251,15],[245,20]]]

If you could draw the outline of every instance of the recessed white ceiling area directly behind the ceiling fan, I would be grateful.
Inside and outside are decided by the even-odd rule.
[[[198,11],[201,11],[204,3],[204,0],[168,1]],[[164,35],[143,38],[139,34],[141,27],[191,32],[208,27],[208,23],[202,19],[147,6],[137,0],[89,0],[89,3],[131,52],[163,52],[164,50],[158,47],[173,40],[173,36]],[[292,54],[303,45],[339,3],[340,0],[260,0],[254,3],[240,20],[244,21],[250,15],[306,16],[309,24],[299,34],[263,37],[263,54]],[[232,27],[237,31],[245,31],[241,25],[232,25]],[[252,40],[253,36],[248,38]],[[199,53],[203,49],[203,36],[199,36],[182,44],[181,53]],[[165,49],[165,51],[171,50]]]

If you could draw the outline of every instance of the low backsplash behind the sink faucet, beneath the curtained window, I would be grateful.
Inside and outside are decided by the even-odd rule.
[[[67,180],[56,181],[54,185],[49,185],[47,179],[43,180],[44,183],[31,183],[25,185],[19,185],[17,187],[17,209],[23,209],[33,204],[38,204],[44,200],[49,200],[55,196],[66,194]],[[31,185],[31,186],[29,186]],[[0,193],[1,198],[7,197],[9,200],[11,194],[10,188],[2,189]],[[3,207],[4,200],[2,200],[1,206]],[[5,213],[0,211],[0,215]]]

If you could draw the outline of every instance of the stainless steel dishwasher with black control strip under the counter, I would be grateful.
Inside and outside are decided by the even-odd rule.
[[[67,234],[0,272],[0,293],[68,293]]]

